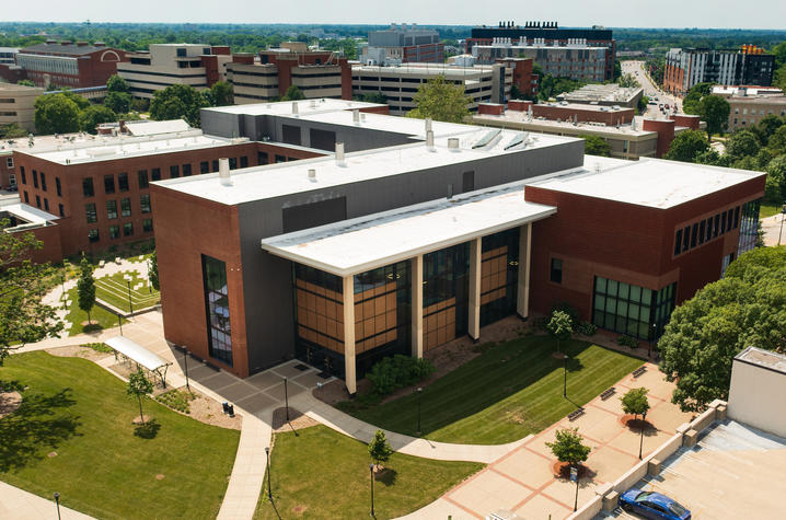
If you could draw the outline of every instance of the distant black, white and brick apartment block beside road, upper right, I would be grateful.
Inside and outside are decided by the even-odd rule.
[[[770,86],[775,56],[754,45],[740,49],[672,48],[666,54],[663,89],[685,95],[696,83]]]

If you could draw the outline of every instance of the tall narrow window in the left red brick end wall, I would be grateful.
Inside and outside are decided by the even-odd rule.
[[[210,357],[232,365],[232,327],[230,323],[227,264],[203,255],[203,284],[208,324]]]

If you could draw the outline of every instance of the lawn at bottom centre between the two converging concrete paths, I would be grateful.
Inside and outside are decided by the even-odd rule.
[[[273,499],[259,497],[257,519],[368,518],[368,448],[326,426],[276,435],[270,452]],[[476,462],[444,462],[394,453],[374,483],[377,518],[419,509],[483,469]]]

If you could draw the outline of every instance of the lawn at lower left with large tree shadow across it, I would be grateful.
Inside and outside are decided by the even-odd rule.
[[[216,517],[239,431],[147,400],[159,429],[137,436],[139,406],[125,384],[81,358],[14,355],[0,381],[24,389],[22,406],[0,419],[0,479],[48,499],[58,492],[63,505],[102,519]]]

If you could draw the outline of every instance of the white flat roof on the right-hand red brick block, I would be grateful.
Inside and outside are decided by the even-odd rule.
[[[594,163],[601,167],[594,171]],[[585,155],[585,167],[533,186],[620,203],[667,209],[756,177],[762,172],[641,158],[614,165]]]

